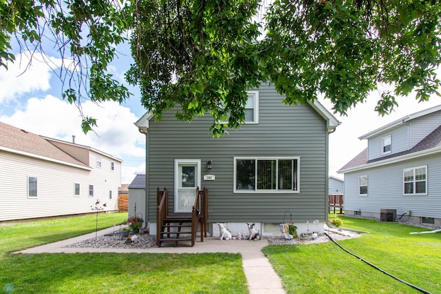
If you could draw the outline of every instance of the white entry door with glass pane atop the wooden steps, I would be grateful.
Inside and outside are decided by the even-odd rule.
[[[175,159],[174,161],[174,212],[191,213],[196,197],[196,187],[201,187],[201,160]]]

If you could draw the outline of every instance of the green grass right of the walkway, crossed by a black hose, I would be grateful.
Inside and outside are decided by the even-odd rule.
[[[441,234],[415,226],[340,217],[345,228],[369,231],[339,241],[351,253],[430,293],[441,293]],[[419,293],[376,271],[332,242],[267,246],[264,253],[287,293]]]

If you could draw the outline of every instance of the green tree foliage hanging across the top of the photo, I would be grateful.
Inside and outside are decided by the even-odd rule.
[[[340,114],[378,84],[394,89],[382,93],[381,115],[397,95],[439,95],[440,19],[435,0],[275,0],[267,9],[257,0],[11,0],[0,3],[0,66],[14,61],[11,37],[37,51],[50,40],[64,60],[65,99],[80,110],[82,99],[121,103],[130,93],[107,67],[130,41],[126,79],[143,106],[157,119],[175,106],[187,121],[209,113],[219,136],[244,122],[246,90],[262,81],[285,104],[323,95]],[[83,130],[96,124],[83,119]]]

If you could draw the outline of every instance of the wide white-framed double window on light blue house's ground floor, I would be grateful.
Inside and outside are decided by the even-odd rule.
[[[403,170],[403,194],[427,195],[427,166]]]

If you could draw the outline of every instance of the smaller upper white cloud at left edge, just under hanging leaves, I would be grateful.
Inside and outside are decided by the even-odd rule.
[[[27,92],[50,89],[50,67],[57,68],[61,60],[36,54],[30,63],[29,57],[30,52],[24,52],[16,56],[14,63],[8,64],[8,70],[0,68],[0,104]]]

